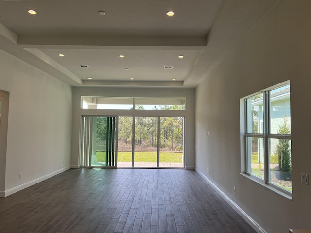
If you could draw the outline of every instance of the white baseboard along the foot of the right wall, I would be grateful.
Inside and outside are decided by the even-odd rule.
[[[231,200],[216,184],[211,182],[198,168],[195,171],[203,177],[224,199],[225,201],[240,215],[244,220],[258,233],[267,233],[253,218],[244,212],[233,200]]]

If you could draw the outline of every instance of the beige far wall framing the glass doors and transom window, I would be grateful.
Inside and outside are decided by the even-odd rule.
[[[80,119],[82,115],[104,115],[104,116],[134,116],[139,110],[99,110],[81,109],[81,96],[112,96],[112,97],[186,97],[186,110],[182,111],[185,117],[185,167],[194,169],[194,89],[169,89],[169,88],[73,88],[72,101],[72,148],[71,166],[79,166],[79,133]],[[146,112],[149,111],[146,114]],[[140,111],[141,112],[141,111]],[[180,116],[179,111],[172,110],[146,110],[144,116]],[[137,112],[136,112],[137,114]],[[167,115],[168,114],[168,115]],[[177,115],[176,115],[177,114]]]

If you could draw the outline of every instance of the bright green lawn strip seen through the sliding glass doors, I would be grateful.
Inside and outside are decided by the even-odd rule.
[[[160,163],[182,163],[183,153],[160,152]],[[156,152],[135,152],[135,162],[156,162]],[[96,152],[98,162],[104,162],[106,152]],[[118,162],[132,162],[132,152],[118,152]]]

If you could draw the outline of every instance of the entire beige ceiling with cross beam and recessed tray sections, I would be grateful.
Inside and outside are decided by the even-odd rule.
[[[0,49],[72,86],[195,87],[274,1],[0,0]]]

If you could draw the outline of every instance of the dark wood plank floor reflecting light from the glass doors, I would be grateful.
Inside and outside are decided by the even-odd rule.
[[[256,233],[195,171],[71,169],[0,198],[1,233]]]

